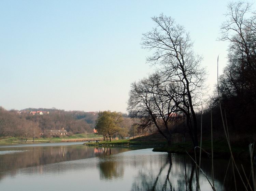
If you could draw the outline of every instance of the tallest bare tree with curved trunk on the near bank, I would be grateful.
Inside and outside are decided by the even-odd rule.
[[[176,108],[184,112],[187,127],[194,146],[198,145],[196,106],[204,90],[205,70],[201,67],[202,57],[193,51],[193,42],[183,26],[164,15],[152,17],[157,25],[143,34],[142,48],[154,51],[147,62],[160,65],[160,73],[167,76],[169,83],[179,84],[175,92]],[[175,90],[176,91],[176,90]],[[171,92],[170,95],[172,94]]]

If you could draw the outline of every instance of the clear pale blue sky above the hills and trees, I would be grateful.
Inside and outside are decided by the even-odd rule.
[[[228,2],[1,0],[0,106],[127,112],[130,84],[155,70],[140,43],[161,13],[190,32],[211,94],[217,56],[220,73],[227,61],[216,39]]]

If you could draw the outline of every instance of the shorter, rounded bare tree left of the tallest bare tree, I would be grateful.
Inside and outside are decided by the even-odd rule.
[[[141,118],[139,129],[141,132],[156,127],[157,131],[171,144],[170,126],[177,119],[176,112],[179,110],[173,98],[166,94],[172,84],[161,82],[159,73],[154,73],[148,78],[131,85],[129,93],[128,110],[131,116]]]

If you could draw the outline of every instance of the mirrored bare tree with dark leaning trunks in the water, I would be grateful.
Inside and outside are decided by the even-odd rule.
[[[174,160],[174,161],[173,161]],[[138,175],[134,178],[131,190],[163,190],[174,191],[196,190],[197,176],[195,165],[187,157],[178,156],[175,154],[168,154],[162,156],[160,167],[151,166],[150,169],[140,170]],[[209,172],[207,171],[209,175]],[[201,190],[211,190],[210,185],[202,177],[200,177]],[[225,190],[223,185],[216,181],[217,190]]]

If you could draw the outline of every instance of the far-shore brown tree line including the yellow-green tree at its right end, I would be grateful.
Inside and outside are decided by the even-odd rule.
[[[110,140],[110,137],[112,139],[113,137],[124,139],[125,137],[138,134],[137,128],[133,131],[134,120],[121,112],[65,111],[56,108],[27,108],[22,111],[19,114],[17,110],[9,111],[0,107],[0,136],[20,136],[28,140],[28,138],[34,139],[38,137],[40,133],[44,133],[43,136],[46,137],[59,136],[50,135],[47,133],[47,130],[60,130],[62,128],[68,131],[68,135],[85,133],[85,131],[87,133],[94,133],[93,129],[97,128],[98,132],[101,132],[104,138],[108,140]],[[30,111],[49,111],[49,114],[32,115]],[[103,134],[103,126],[100,129],[100,118],[98,117],[104,116],[103,114],[105,113],[111,113],[111,117],[117,121],[112,121],[113,123],[107,126],[107,132]]]

